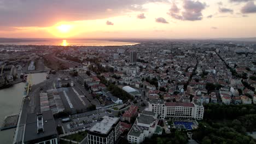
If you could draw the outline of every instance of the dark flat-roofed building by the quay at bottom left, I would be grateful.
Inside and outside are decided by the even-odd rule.
[[[51,111],[27,115],[22,143],[57,144],[57,139],[56,126]]]

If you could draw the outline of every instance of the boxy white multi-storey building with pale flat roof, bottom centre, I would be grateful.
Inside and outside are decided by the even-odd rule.
[[[104,116],[88,131],[88,143],[114,144],[120,136],[120,118]]]

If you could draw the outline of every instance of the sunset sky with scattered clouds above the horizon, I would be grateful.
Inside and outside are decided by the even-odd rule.
[[[256,0],[0,0],[2,38],[256,37]]]

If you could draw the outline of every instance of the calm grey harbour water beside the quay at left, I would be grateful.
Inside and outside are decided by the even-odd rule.
[[[32,75],[32,85],[43,82],[46,79],[46,73],[37,73]],[[12,87],[0,90],[0,123],[2,125],[5,116],[18,114],[22,97],[24,94],[25,83],[17,83]],[[0,143],[13,143],[14,129],[0,131]]]

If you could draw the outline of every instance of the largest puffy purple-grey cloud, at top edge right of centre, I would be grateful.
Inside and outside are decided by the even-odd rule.
[[[179,14],[179,9],[177,5],[173,3],[171,9],[169,9],[169,12],[167,14],[170,15],[173,19],[178,20],[202,20],[202,10],[206,8],[206,4],[199,1],[184,0],[183,8],[184,11]]]

